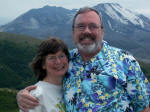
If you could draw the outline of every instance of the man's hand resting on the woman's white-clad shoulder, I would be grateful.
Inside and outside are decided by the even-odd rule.
[[[17,93],[17,103],[22,111],[28,112],[28,109],[38,106],[38,99],[29,94],[35,88],[36,86],[29,86]]]

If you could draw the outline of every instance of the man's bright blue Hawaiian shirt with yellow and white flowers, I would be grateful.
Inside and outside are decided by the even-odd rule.
[[[150,84],[137,61],[105,41],[87,63],[72,50],[63,83],[67,112],[140,112],[150,102]]]

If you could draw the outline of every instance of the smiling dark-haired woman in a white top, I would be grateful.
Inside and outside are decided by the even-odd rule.
[[[39,106],[29,112],[65,112],[62,98],[62,79],[68,70],[69,51],[56,38],[44,40],[30,66],[36,75],[37,88],[31,95],[39,99]]]

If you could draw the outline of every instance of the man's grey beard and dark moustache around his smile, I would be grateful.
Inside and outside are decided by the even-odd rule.
[[[94,43],[90,44],[90,45],[82,45],[80,44],[80,41],[84,40],[84,39],[91,39],[94,41]],[[79,51],[84,52],[86,54],[90,54],[90,53],[95,53],[100,45],[101,45],[101,41],[96,41],[96,36],[92,35],[92,34],[84,34],[83,36],[79,37],[79,42],[76,43],[77,48],[79,49]]]

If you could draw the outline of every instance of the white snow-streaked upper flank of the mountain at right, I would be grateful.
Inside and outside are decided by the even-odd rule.
[[[103,7],[101,5],[96,7],[99,8],[100,11],[104,11],[112,19],[119,21],[122,24],[134,24],[141,28],[149,28],[148,30],[150,31],[150,23],[148,18],[136,12],[125,9],[119,4],[107,3],[104,4]]]

